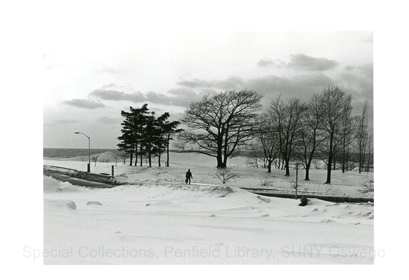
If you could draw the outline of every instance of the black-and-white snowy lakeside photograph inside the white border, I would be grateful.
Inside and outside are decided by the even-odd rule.
[[[44,264],[372,264],[373,33],[163,40],[44,53]]]

